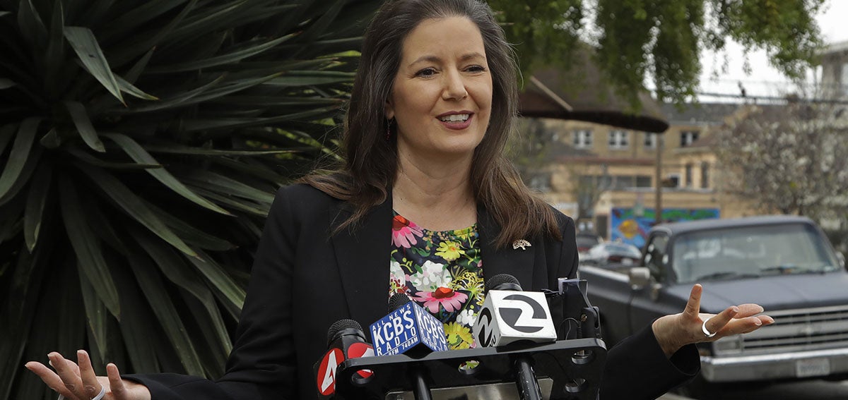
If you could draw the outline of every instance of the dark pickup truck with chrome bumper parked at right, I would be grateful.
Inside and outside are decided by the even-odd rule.
[[[639,264],[581,265],[600,308],[608,346],[665,314],[677,314],[692,285],[700,309],[758,303],[774,324],[700,343],[701,381],[739,382],[848,375],[848,272],[810,219],[762,216],[656,225]]]

